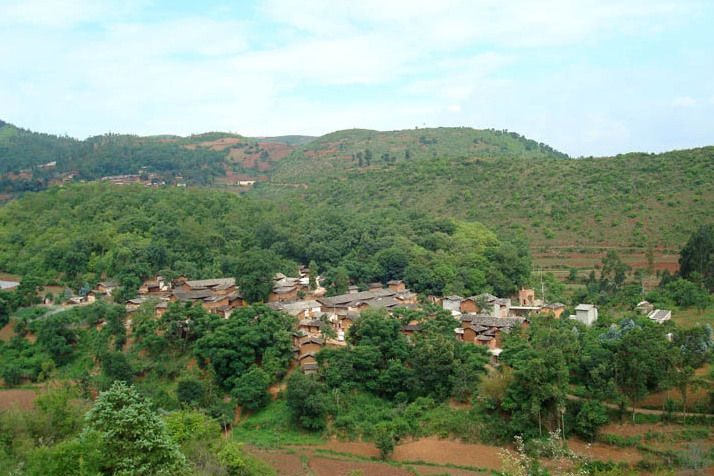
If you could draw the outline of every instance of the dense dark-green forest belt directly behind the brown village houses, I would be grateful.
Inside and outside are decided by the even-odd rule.
[[[527,246],[478,223],[200,189],[85,184],[26,195],[0,209],[0,243],[0,269],[75,289],[109,277],[135,291],[156,273],[258,279],[311,261],[341,288],[404,278],[432,294],[505,295],[530,275]]]

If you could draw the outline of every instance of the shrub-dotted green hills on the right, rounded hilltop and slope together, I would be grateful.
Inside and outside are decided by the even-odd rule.
[[[502,131],[350,130],[301,147],[254,193],[425,210],[525,232],[536,248],[677,249],[714,216],[714,147],[572,159]]]

